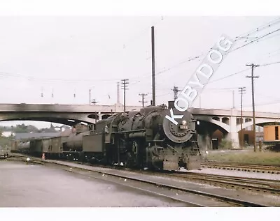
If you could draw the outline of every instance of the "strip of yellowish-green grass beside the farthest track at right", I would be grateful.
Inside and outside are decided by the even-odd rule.
[[[280,165],[280,153],[271,151],[253,152],[253,150],[228,151],[227,153],[213,151],[207,155],[207,160],[252,163],[260,165]]]

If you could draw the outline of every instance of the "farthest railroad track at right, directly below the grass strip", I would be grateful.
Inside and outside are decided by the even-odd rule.
[[[207,162],[202,162],[202,167],[237,170],[237,171],[243,171],[243,172],[280,174],[279,165],[275,165],[275,166],[273,166],[273,165],[251,165],[251,164],[244,164],[244,163],[239,163],[239,162],[207,161]]]

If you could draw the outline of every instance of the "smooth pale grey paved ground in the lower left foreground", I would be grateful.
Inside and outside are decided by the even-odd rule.
[[[0,161],[0,207],[186,206],[62,169]]]

